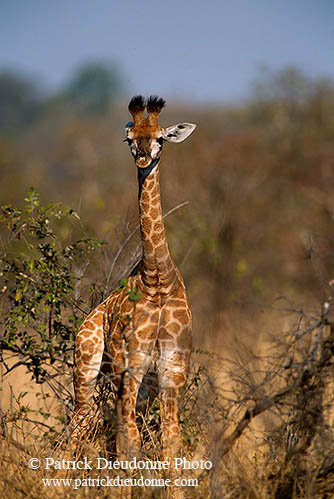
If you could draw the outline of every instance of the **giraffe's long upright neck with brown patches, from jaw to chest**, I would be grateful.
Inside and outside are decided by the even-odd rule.
[[[179,284],[180,274],[169,252],[162,217],[159,160],[145,170],[138,170],[139,215],[143,245],[141,275],[144,292],[156,298],[170,294]]]

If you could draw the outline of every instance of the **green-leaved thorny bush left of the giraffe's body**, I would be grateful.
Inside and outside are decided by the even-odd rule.
[[[59,204],[41,206],[33,188],[22,210],[1,207],[0,352],[5,374],[23,365],[37,383],[51,375],[55,383],[58,374],[72,367],[74,334],[83,317],[78,287],[90,253],[103,245],[93,239],[64,243],[62,229],[66,224],[73,229],[78,220],[73,210]]]

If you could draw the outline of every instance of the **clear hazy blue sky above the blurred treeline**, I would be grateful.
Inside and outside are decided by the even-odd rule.
[[[333,0],[0,0],[0,69],[57,89],[87,60],[129,93],[228,101],[258,68],[333,76]]]

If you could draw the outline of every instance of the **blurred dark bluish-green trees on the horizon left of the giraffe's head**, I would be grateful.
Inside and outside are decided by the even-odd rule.
[[[0,70],[0,134],[17,131],[50,112],[66,117],[67,104],[85,115],[107,114],[123,89],[121,70],[102,61],[82,64],[63,91],[48,94],[19,71]]]

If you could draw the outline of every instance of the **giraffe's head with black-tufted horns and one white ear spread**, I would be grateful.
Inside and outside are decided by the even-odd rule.
[[[196,128],[192,123],[179,123],[167,128],[160,126],[158,116],[164,105],[165,101],[159,97],[151,96],[146,101],[141,95],[133,97],[129,103],[133,121],[125,126],[125,141],[138,168],[153,169],[159,162],[164,142],[182,142]]]

